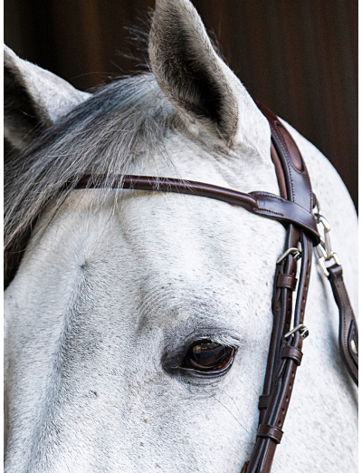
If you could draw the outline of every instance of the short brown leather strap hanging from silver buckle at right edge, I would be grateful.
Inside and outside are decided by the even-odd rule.
[[[358,386],[358,329],[343,281],[341,265],[328,268],[329,282],[339,309],[339,352],[349,374]]]

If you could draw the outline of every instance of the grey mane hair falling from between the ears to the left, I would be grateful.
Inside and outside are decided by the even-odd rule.
[[[5,283],[14,276],[31,229],[68,179],[126,174],[133,159],[162,145],[175,112],[151,73],[110,83],[46,130],[5,166]],[[107,182],[105,187],[110,185]],[[69,190],[70,191],[70,190]],[[69,192],[68,191],[68,192]]]

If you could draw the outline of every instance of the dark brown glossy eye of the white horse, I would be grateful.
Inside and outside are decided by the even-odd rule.
[[[186,352],[181,367],[204,374],[223,373],[231,368],[234,352],[230,346],[209,340],[199,341]]]

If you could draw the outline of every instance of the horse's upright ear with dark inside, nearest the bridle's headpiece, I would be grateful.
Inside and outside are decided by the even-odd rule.
[[[208,136],[211,133],[228,147],[244,137],[257,140],[252,126],[259,121],[265,128],[266,121],[215,53],[189,0],[156,0],[148,53],[158,85],[188,125],[196,125]],[[243,137],[238,136],[241,132]],[[258,132],[260,139],[260,127]]]

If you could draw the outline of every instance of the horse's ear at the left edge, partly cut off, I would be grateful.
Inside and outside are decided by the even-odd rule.
[[[4,84],[5,138],[19,150],[90,97],[52,72],[20,59],[7,46],[4,46]]]

